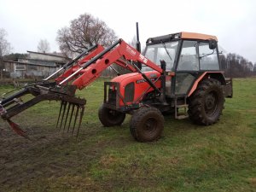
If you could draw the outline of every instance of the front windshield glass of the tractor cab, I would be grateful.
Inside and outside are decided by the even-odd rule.
[[[178,41],[148,45],[145,51],[145,56],[158,66],[160,66],[160,60],[166,61],[166,71],[172,71],[177,44]],[[153,69],[150,67],[143,66],[143,72],[152,70]]]

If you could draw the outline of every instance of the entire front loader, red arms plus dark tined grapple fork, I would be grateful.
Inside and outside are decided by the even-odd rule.
[[[122,39],[119,39],[107,49],[104,49],[102,45],[96,45],[78,55],[73,61],[69,61],[65,66],[44,79],[43,82],[29,84],[12,96],[4,98],[0,101],[0,115],[2,119],[7,120],[15,132],[26,137],[25,132],[20,129],[20,126],[10,119],[38,102],[45,100],[61,101],[56,128],[63,131],[67,128],[67,131],[70,130],[73,133],[78,115],[80,114],[79,126],[77,127],[78,135],[86,100],[76,97],[75,92],[77,89],[82,90],[99,78],[102,71],[113,63],[130,70],[131,73],[141,73],[137,63],[151,67],[159,73],[163,72],[154,62],[149,61],[137,49],[126,44]],[[64,72],[55,78],[61,71]],[[143,75],[143,77],[147,79],[146,76]],[[49,80],[53,78],[55,78],[55,81],[50,82]],[[152,85],[154,86],[154,84]],[[29,94],[34,97],[23,102],[21,96]]]

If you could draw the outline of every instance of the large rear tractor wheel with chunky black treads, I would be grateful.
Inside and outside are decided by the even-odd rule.
[[[217,79],[201,81],[189,97],[189,118],[197,125],[212,125],[224,108],[224,90]]]

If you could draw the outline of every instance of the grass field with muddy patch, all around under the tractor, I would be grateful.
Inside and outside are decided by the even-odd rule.
[[[11,90],[0,87],[0,93]],[[97,118],[100,79],[79,92],[87,99],[79,138],[55,130],[57,102],[42,102],[13,120],[0,120],[0,191],[255,191],[256,79],[235,79],[220,121],[198,126],[165,117],[163,137],[137,143],[121,126]]]

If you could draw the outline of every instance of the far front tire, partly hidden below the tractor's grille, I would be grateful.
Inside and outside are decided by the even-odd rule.
[[[121,125],[125,120],[125,113],[113,110],[111,108],[105,108],[102,106],[98,111],[99,119],[104,126]]]

